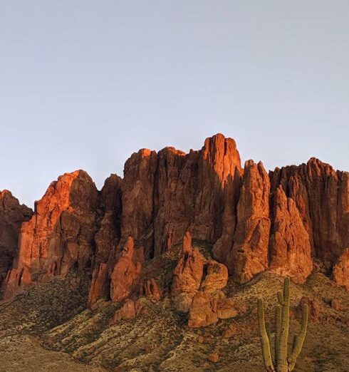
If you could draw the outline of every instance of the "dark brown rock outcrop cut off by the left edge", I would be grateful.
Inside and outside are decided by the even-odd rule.
[[[18,258],[19,230],[33,211],[19,201],[11,192],[0,192],[0,287],[7,272]]]

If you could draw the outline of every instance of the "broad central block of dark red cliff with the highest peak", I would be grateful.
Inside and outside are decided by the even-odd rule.
[[[231,198],[241,172],[236,144],[223,135],[189,154],[140,150],[125,163],[122,236],[134,237],[147,258],[166,252],[189,227],[195,238],[216,242],[235,222]]]

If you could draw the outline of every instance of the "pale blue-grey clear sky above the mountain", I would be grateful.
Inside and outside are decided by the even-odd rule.
[[[349,170],[348,0],[0,0],[0,190],[100,189],[223,133],[266,169]]]

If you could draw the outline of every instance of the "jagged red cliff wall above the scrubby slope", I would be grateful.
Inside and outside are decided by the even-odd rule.
[[[189,249],[187,236],[173,284],[159,284],[157,273],[143,282],[147,262],[170,252],[187,231],[212,245],[215,261]],[[316,259],[335,267],[333,278],[345,285],[348,247],[347,172],[316,159],[269,175],[261,162],[249,160],[243,169],[234,140],[215,135],[188,154],[140,150],[125,163],[123,179],[111,175],[100,192],[83,171],[59,177],[21,226],[5,296],[78,269],[92,273],[89,306],[138,294],[159,299],[172,291],[186,311],[194,298],[198,306],[219,308],[221,300],[198,292],[198,275],[208,268],[223,264],[238,282],[271,269],[301,283]],[[183,288],[187,282],[190,288]]]

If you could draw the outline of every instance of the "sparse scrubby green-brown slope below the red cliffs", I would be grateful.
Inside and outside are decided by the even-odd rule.
[[[150,272],[159,269],[159,275],[163,276],[162,264],[172,266],[172,259],[177,260],[177,255],[173,254],[172,258],[172,254],[165,254],[165,261],[152,260],[150,265],[154,266],[149,267]],[[263,294],[266,321],[270,321],[269,315],[274,319],[275,292],[282,288],[282,279],[276,274],[263,273],[239,286],[229,279],[226,296],[247,303],[250,311],[202,329],[189,329],[185,316],[172,310],[171,298],[166,294],[155,304],[156,311],[151,316],[110,326],[118,305],[96,311],[86,309],[88,282],[80,279],[78,283],[76,275],[56,277],[0,305],[0,371],[62,371],[57,368],[63,359],[62,366],[67,372],[118,371],[118,368],[125,372],[265,371],[255,304]],[[290,289],[291,334],[299,329],[299,321],[292,313],[303,296],[318,299],[321,310],[318,324],[309,320],[308,334],[294,371],[348,372],[348,291],[321,272],[311,274],[306,284],[291,283]],[[345,310],[333,309],[332,299],[340,300]],[[226,329],[231,330],[231,335],[224,336]],[[28,337],[30,342],[36,340],[31,353],[30,342],[22,341]],[[219,355],[217,363],[207,359],[211,353]],[[21,363],[11,370],[10,361],[17,358]],[[77,361],[83,364],[77,366]]]

